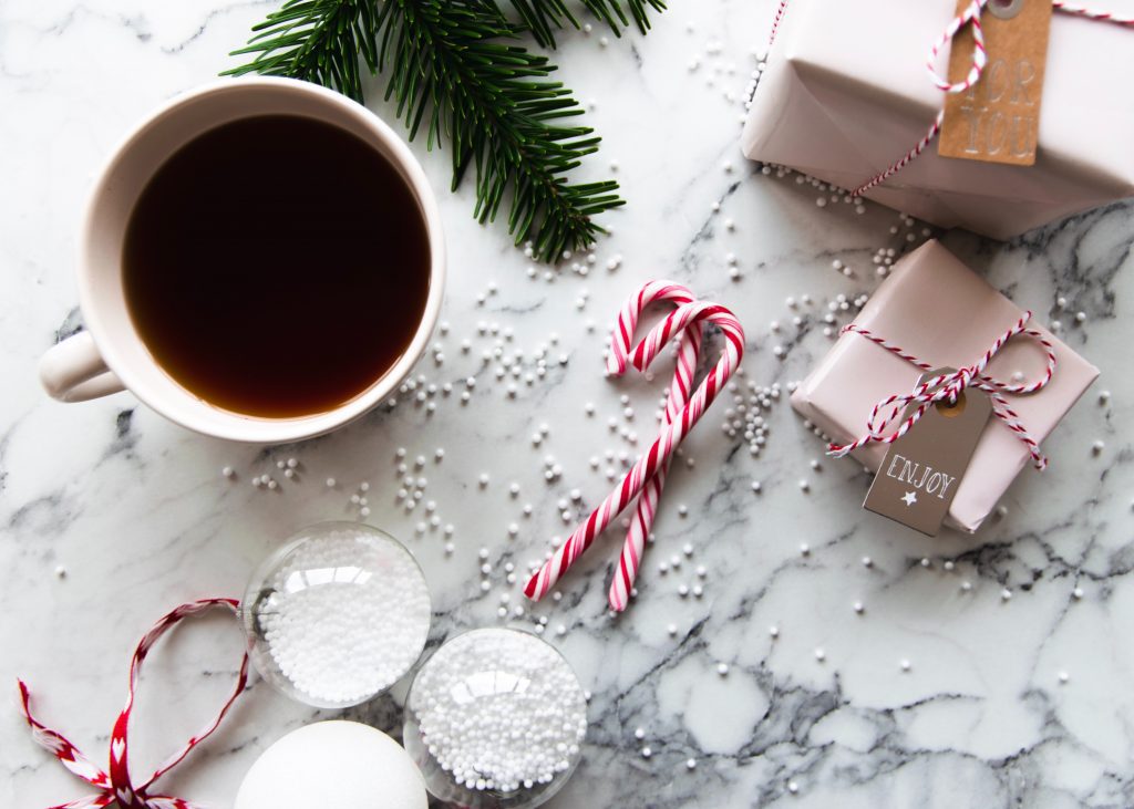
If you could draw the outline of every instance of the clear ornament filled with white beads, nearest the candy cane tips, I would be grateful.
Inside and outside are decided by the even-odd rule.
[[[514,629],[477,629],[421,667],[403,736],[425,786],[468,809],[532,809],[578,764],[586,699],[552,646]]]

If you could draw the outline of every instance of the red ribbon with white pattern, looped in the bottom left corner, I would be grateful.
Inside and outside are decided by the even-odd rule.
[[[218,725],[220,725],[221,721],[225,718],[225,715],[228,714],[229,708],[232,707],[232,702],[235,702],[236,698],[244,692],[244,689],[248,683],[247,653],[245,653],[244,659],[240,663],[240,673],[236,679],[236,688],[232,690],[231,696],[221,707],[220,713],[217,714],[215,718],[202,727],[196,735],[189,739],[172,756],[167,758],[166,761],[154,770],[153,775],[141,784],[134,783],[130,778],[129,772],[128,736],[130,712],[134,708],[134,695],[137,691],[138,675],[142,672],[142,664],[145,662],[150,649],[155,642],[158,642],[158,639],[161,638],[162,635],[174,627],[174,624],[191,615],[196,615],[197,613],[205,612],[212,607],[225,607],[235,613],[238,606],[239,604],[231,598],[204,598],[202,601],[193,602],[192,604],[185,604],[169,612],[164,618],[154,624],[153,629],[146,632],[145,637],[142,638],[141,642],[138,642],[137,649],[134,652],[134,659],[130,663],[130,688],[126,696],[126,707],[122,708],[122,712],[118,715],[118,719],[115,722],[115,727],[110,733],[109,772],[103,772],[96,767],[91,759],[79,752],[78,749],[60,733],[57,733],[40,723],[32,715],[32,695],[27,684],[23,680],[18,681],[20,706],[23,708],[24,719],[27,722],[28,727],[32,729],[32,736],[42,747],[54,753],[56,758],[58,758],[62,765],[67,767],[67,769],[98,790],[98,792],[92,795],[79,798],[78,800],[70,801],[69,803],[61,803],[51,807],[51,809],[96,809],[98,807],[109,807],[115,802],[117,802],[121,809],[200,809],[197,804],[191,803],[189,801],[180,798],[151,794],[150,787],[158,778],[180,764],[181,759],[188,756],[193,748],[209,738],[209,735],[217,730]]]

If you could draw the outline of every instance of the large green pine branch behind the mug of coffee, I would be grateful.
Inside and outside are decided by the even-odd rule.
[[[288,0],[253,32],[234,52],[252,61],[226,75],[291,76],[363,101],[361,54],[388,74],[411,139],[450,140],[452,187],[473,169],[476,219],[494,220],[510,191],[508,230],[543,261],[591,245],[603,232],[591,218],[623,204],[617,182],[567,181],[599,137],[562,124],[582,108],[547,79],[547,58],[506,42],[519,29],[492,0]]]

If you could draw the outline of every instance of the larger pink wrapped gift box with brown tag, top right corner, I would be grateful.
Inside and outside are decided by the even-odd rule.
[[[1099,0],[1134,15],[1134,0]],[[856,188],[945,103],[925,71],[956,0],[790,0],[742,136],[750,159]],[[948,65],[941,56],[939,69]],[[1056,12],[1033,167],[939,157],[933,143],[866,196],[1006,239],[1134,195],[1134,31]]]

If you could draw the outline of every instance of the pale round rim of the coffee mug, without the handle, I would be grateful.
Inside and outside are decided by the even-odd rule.
[[[204,419],[198,419],[197,414],[193,409],[170,407],[169,397],[164,394],[154,395],[153,391],[150,390],[150,384],[146,382],[147,372],[163,374],[167,377],[169,377],[169,374],[156,361],[149,348],[145,347],[145,342],[137,334],[137,330],[133,327],[133,323],[130,324],[130,329],[134,332],[134,339],[145,348],[149,366],[145,371],[141,371],[136,364],[125,359],[122,352],[119,351],[118,341],[111,335],[111,330],[107,323],[107,320],[117,315],[100,310],[99,305],[95,303],[95,275],[99,273],[94,271],[93,262],[91,261],[92,247],[95,240],[95,212],[100,201],[108,193],[108,182],[112,179],[115,169],[129,154],[130,150],[152,125],[177,109],[200,100],[202,96],[225,92],[242,93],[257,87],[266,87],[287,93],[308,94],[316,96],[322,102],[338,107],[388,150],[388,153],[383,156],[396,165],[399,173],[411,186],[421,208],[422,219],[424,220],[430,246],[429,293],[421,321],[417,324],[409,346],[382,376],[349,401],[333,409],[307,416],[265,418],[238,414],[217,407],[174,380],[179,395],[184,397],[186,401],[192,401],[194,406],[201,404],[211,408],[213,414],[223,417],[219,420],[205,421]],[[338,126],[335,121],[330,121],[330,124]],[[169,155],[172,155],[175,152],[176,150],[170,150]],[[421,163],[413,152],[411,152],[407,143],[386,121],[366,107],[332,90],[299,79],[277,76],[215,79],[178,93],[152,110],[127,131],[125,137],[111,150],[110,156],[103,163],[98,174],[98,180],[87,198],[81,233],[77,263],[79,308],[82,309],[86,329],[91,332],[107,367],[118,376],[132,395],[162,417],[187,429],[218,438],[257,444],[287,443],[315,437],[354,421],[381,403],[383,399],[389,397],[405,381],[414,365],[416,365],[417,360],[425,352],[441,313],[446,281],[445,232],[441,228],[441,215],[437,197]],[[118,278],[121,279],[122,269],[120,259],[116,272]],[[104,316],[107,320],[104,320]],[[129,313],[125,312],[122,316],[129,317]]]

